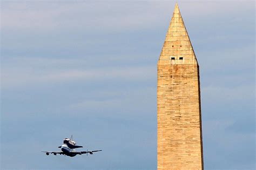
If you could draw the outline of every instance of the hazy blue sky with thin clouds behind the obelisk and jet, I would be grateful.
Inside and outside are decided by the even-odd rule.
[[[177,2],[200,65],[204,167],[255,169],[255,2]],[[1,1],[1,169],[157,169],[175,3]],[[103,152],[41,153],[71,134]]]

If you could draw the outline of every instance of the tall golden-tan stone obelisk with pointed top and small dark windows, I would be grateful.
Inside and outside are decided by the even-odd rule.
[[[199,65],[178,4],[157,67],[157,168],[203,169]]]

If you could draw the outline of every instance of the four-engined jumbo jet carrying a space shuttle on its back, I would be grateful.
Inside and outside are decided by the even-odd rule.
[[[69,157],[75,157],[76,155],[82,155],[82,154],[87,154],[90,153],[91,155],[93,154],[93,152],[99,152],[102,150],[97,150],[97,151],[82,151],[82,152],[76,152],[75,148],[79,148],[79,147],[83,147],[83,146],[76,146],[76,142],[72,140],[72,135],[71,138],[65,138],[63,140],[63,145],[59,146],[59,148],[62,150],[62,152],[48,152],[48,151],[42,151],[45,152],[46,155],[49,155],[50,153],[53,155],[67,155]]]

